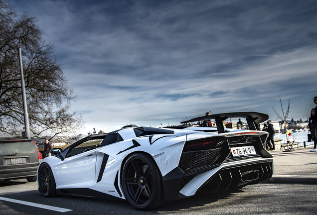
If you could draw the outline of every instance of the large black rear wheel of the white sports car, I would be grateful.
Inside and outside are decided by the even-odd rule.
[[[152,210],[164,204],[161,175],[154,161],[145,154],[133,154],[127,159],[121,185],[126,200],[138,210]]]

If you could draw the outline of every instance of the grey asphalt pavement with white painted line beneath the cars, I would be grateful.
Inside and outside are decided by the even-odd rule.
[[[124,200],[78,196],[44,198],[37,191],[36,182],[26,183],[26,180],[17,180],[0,183],[0,214],[315,215],[316,190],[317,185],[261,183],[235,192],[220,192],[174,201],[157,210],[140,212],[129,206]],[[6,199],[3,200],[3,198]],[[24,202],[12,202],[11,200]]]

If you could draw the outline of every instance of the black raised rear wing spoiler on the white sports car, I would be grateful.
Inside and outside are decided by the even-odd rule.
[[[231,113],[218,113],[208,116],[201,116],[189,119],[187,121],[182,121],[180,123],[188,123],[188,122],[195,122],[195,121],[201,121],[206,119],[215,119],[218,133],[224,133],[225,129],[223,126],[223,121],[227,118],[246,118],[247,123],[250,130],[257,130],[255,123],[260,123],[265,120],[269,119],[269,115],[265,113],[259,113],[259,112],[231,112]]]

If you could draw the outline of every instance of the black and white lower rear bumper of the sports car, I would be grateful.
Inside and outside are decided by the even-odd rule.
[[[163,177],[166,201],[194,196],[198,191],[213,193],[258,184],[273,175],[273,158],[249,158],[223,163],[196,175],[186,175],[179,167]]]

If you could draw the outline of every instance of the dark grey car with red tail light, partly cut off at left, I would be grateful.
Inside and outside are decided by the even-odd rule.
[[[36,181],[42,154],[31,139],[0,140],[0,181],[25,178]]]

